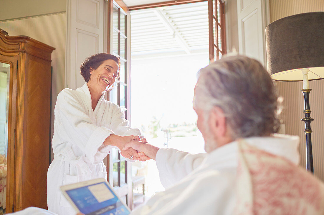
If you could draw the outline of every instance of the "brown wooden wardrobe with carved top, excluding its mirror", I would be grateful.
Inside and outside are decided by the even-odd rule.
[[[29,206],[47,209],[54,49],[0,29],[0,62],[10,65],[6,213]]]

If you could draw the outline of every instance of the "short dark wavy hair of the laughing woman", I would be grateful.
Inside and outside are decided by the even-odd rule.
[[[114,60],[118,64],[118,66],[121,66],[120,60],[118,57],[106,53],[98,53],[91,56],[88,56],[80,67],[80,73],[83,76],[84,80],[88,82],[90,80],[90,68],[96,70],[103,61],[105,60]],[[118,72],[118,76],[116,77],[116,80],[119,78],[120,72]]]

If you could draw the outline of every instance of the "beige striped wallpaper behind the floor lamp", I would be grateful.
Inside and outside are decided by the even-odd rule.
[[[271,22],[290,15],[324,11],[323,0],[270,0]],[[304,118],[304,97],[300,91],[302,82],[275,81],[279,93],[284,98],[282,113],[286,134],[300,137],[300,165],[306,168],[306,138]],[[315,120],[311,123],[314,175],[324,181],[324,80],[310,81],[312,91],[310,97],[310,116]]]

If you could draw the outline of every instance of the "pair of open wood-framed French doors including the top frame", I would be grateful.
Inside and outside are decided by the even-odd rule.
[[[203,0],[166,1],[149,5],[133,6],[131,10],[188,4]],[[208,1],[209,14],[209,46],[210,60],[220,59],[226,53],[225,42],[225,12],[222,0]],[[121,77],[110,91],[108,99],[118,104],[125,112],[125,118],[130,121],[130,14],[129,8],[121,0],[108,0],[108,53],[121,59]],[[108,181],[116,192],[133,207],[133,186],[131,165],[116,149],[110,151],[107,157]]]

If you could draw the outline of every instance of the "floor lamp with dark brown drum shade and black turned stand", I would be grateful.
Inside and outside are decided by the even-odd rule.
[[[278,81],[303,81],[307,171],[314,172],[308,80],[324,78],[324,12],[287,16],[266,27],[268,72]]]

